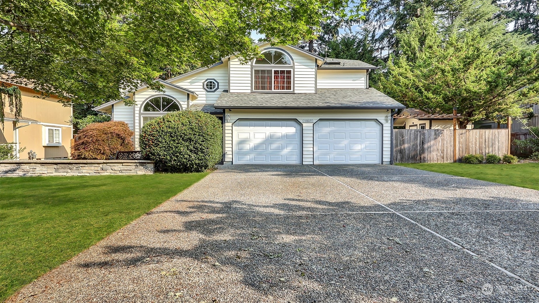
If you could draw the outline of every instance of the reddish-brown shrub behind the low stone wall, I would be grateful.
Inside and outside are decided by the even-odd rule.
[[[75,160],[109,160],[116,152],[133,150],[133,132],[126,122],[92,123],[79,131],[71,157]]]

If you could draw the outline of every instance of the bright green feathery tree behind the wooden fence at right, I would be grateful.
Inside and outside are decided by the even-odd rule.
[[[490,5],[466,1],[463,13],[443,29],[432,10],[412,18],[397,33],[399,49],[377,75],[378,89],[429,113],[450,114],[457,107],[461,128],[521,116],[521,105],[538,99],[539,50],[525,37],[500,31],[505,25],[493,15],[482,15]]]

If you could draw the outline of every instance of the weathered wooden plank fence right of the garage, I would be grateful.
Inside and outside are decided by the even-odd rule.
[[[454,162],[453,129],[395,129],[397,163]],[[466,154],[507,154],[509,129],[457,129],[457,161]]]

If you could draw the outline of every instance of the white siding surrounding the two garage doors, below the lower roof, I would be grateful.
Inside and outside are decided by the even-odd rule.
[[[382,163],[389,164],[391,161],[391,122],[386,120],[388,112],[385,110],[354,110],[354,109],[289,109],[289,110],[248,110],[233,109],[230,120],[225,122],[225,162],[232,161],[232,124],[238,119],[298,119],[303,123],[303,164],[313,162],[313,122],[319,119],[377,119],[382,123]],[[303,122],[312,119],[313,122]],[[309,145],[310,144],[310,145]]]

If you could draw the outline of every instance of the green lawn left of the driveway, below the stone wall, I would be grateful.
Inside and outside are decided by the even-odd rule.
[[[0,302],[206,175],[0,178]]]

